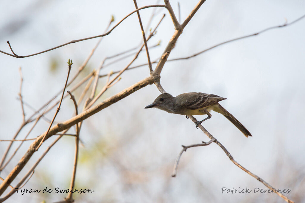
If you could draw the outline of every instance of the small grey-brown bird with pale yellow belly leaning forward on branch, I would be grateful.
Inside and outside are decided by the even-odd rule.
[[[210,119],[213,110],[217,113],[224,115],[228,118],[246,137],[251,136],[251,133],[243,126],[232,114],[224,109],[218,102],[226,100],[226,98],[217,96],[214,94],[205,94],[201,92],[190,92],[179,94],[176,97],[171,96],[168,93],[160,94],[152,104],[149,104],[145,109],[156,107],[158,109],[167,111],[172,114],[181,114],[185,116],[203,115],[208,117],[202,121],[197,121],[196,127],[203,121]]]

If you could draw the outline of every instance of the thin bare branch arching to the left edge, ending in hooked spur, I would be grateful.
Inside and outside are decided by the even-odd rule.
[[[10,47],[10,49],[11,49],[11,51],[12,51],[13,54],[9,54],[9,53],[6,53],[5,51],[1,51],[1,50],[0,50],[0,52],[3,53],[3,54],[7,54],[7,55],[10,55],[10,56],[13,56],[13,57],[15,57],[15,58],[26,58],[26,57],[30,57],[30,56],[35,56],[35,55],[38,55],[38,54],[42,54],[42,53],[45,53],[45,52],[48,52],[48,51],[52,51],[52,50],[54,50],[54,49],[57,49],[57,48],[59,48],[59,47],[66,46],[66,45],[68,45],[68,44],[73,44],[73,43],[80,42],[80,41],[84,41],[84,40],[90,40],[90,39],[94,39],[94,38],[97,38],[97,37],[104,37],[104,36],[106,36],[106,35],[109,35],[109,34],[110,34],[110,33],[120,24],[120,23],[123,22],[123,20],[125,20],[125,19],[126,19],[127,17],[129,17],[131,14],[133,14],[133,13],[135,13],[135,12],[141,10],[141,9],[146,9],[146,8],[151,8],[151,7],[165,7],[165,5],[148,5],[148,6],[143,6],[143,7],[139,8],[139,9],[136,9],[136,10],[134,10],[133,12],[129,13],[127,16],[125,16],[122,20],[120,20],[119,23],[117,23],[115,26],[113,26],[113,28],[111,28],[111,29],[110,29],[108,32],[106,32],[105,34],[97,35],[97,36],[94,36],[94,37],[87,37],[87,38],[79,39],[79,40],[72,40],[72,41],[67,42],[67,43],[65,43],[65,44],[61,44],[61,45],[59,45],[59,46],[57,46],[57,47],[53,47],[53,48],[51,48],[51,49],[48,49],[48,50],[45,50],[45,51],[38,52],[38,53],[36,53],[36,54],[30,54],[30,55],[27,55],[27,56],[19,56],[19,55],[17,55],[17,54],[14,53],[14,51],[13,51],[11,45],[9,44],[9,41],[7,41],[7,43],[9,44],[9,47]]]

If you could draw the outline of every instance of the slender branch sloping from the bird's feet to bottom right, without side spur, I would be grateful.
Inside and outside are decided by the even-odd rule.
[[[197,119],[194,118],[193,116],[188,116],[194,123],[197,122]],[[213,135],[211,135],[201,124],[198,125],[198,127],[200,128],[201,131],[204,132],[204,134],[206,134],[206,136],[208,136],[208,138],[215,139],[213,137]],[[246,173],[248,173],[250,176],[254,177],[255,179],[257,179],[258,181],[260,181],[262,184],[264,184],[266,187],[268,187],[269,189],[273,190],[276,194],[278,194],[278,196],[280,196],[281,198],[283,198],[285,201],[287,202],[293,202],[291,201],[289,198],[287,198],[285,195],[283,195],[282,193],[280,193],[278,190],[276,190],[274,187],[272,187],[269,183],[267,183],[265,180],[263,180],[262,178],[260,178],[259,176],[255,175],[254,173],[251,173],[249,170],[247,170],[245,167],[241,166],[237,161],[235,161],[233,159],[233,156],[230,154],[230,152],[224,147],[224,145],[222,145],[217,139],[215,139],[214,141],[225,153],[226,155],[229,157],[229,159],[231,160],[231,162],[233,162],[236,166],[238,166],[240,169],[242,169],[243,171],[245,171]]]

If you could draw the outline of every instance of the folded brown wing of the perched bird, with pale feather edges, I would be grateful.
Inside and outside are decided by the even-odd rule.
[[[211,104],[217,103],[226,98],[217,96],[215,94],[205,94],[205,93],[184,93],[180,94],[177,97],[180,97],[179,100],[182,101],[182,106],[187,109],[200,109],[207,107]]]

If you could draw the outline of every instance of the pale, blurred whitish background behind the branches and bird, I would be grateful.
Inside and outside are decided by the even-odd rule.
[[[138,7],[156,1],[138,0]],[[159,2],[163,4],[162,1]],[[170,1],[178,16],[178,1]],[[180,1],[181,21],[197,1]],[[18,55],[28,55],[69,42],[102,34],[111,19],[113,25],[135,9],[133,1],[16,0],[2,1],[0,8],[0,50],[10,53],[10,41]],[[152,61],[159,58],[174,26],[164,8],[140,11],[144,27],[152,12],[149,28],[165,19],[149,40]],[[292,22],[305,14],[305,2],[294,1],[206,1],[189,24],[168,59],[186,57],[235,37],[252,34],[270,26]],[[112,26],[113,26],[112,25]],[[161,73],[163,88],[173,96],[185,92],[213,93],[228,98],[221,102],[246,126],[253,137],[245,138],[224,116],[212,113],[203,126],[221,142],[234,159],[277,189],[289,189],[296,202],[305,201],[305,19],[280,29],[270,30],[214,48],[188,60],[168,61]],[[147,32],[149,34],[149,32]],[[303,36],[303,37],[302,37]],[[70,44],[29,58],[0,54],[0,139],[12,139],[22,123],[18,98],[23,72],[22,95],[26,103],[40,108],[63,88],[68,59],[71,77],[99,39]],[[108,56],[138,46],[142,34],[136,14],[128,17],[101,44],[76,82],[84,78]],[[132,52],[130,52],[132,53]],[[102,68],[100,74],[124,68],[133,58]],[[108,64],[118,58],[105,61]],[[147,62],[143,51],[133,63]],[[156,64],[153,64],[153,68]],[[125,71],[122,79],[109,88],[102,101],[149,75],[147,66]],[[73,84],[76,84],[74,82]],[[99,92],[106,77],[99,81]],[[71,86],[72,87],[72,86]],[[70,87],[67,88],[69,90]],[[73,92],[76,99],[80,89]],[[82,125],[82,144],[75,188],[94,190],[74,194],[76,202],[283,202],[277,194],[226,194],[228,189],[266,187],[235,166],[216,144],[188,149],[183,153],[177,177],[172,178],[174,162],[181,145],[209,139],[184,116],[158,109],[144,109],[160,92],[155,85],[132,95],[86,119]],[[87,95],[88,96],[88,95]],[[59,97],[57,98],[59,99]],[[83,103],[79,106],[79,110]],[[25,107],[26,117],[33,113]],[[45,115],[52,119],[55,109]],[[57,122],[74,115],[74,105],[63,100]],[[205,116],[195,116],[202,120]],[[32,124],[22,129],[22,139]],[[30,133],[35,138],[48,128],[41,119]],[[74,133],[74,129],[69,131]],[[49,138],[32,156],[16,185],[56,137]],[[18,163],[32,141],[27,141],[0,174],[5,178]],[[1,156],[8,142],[0,142]],[[19,143],[13,144],[11,155]],[[74,137],[65,136],[53,146],[37,166],[25,189],[59,187],[68,189],[73,169]],[[9,189],[7,190],[7,192]],[[6,202],[60,201],[66,194],[17,194]]]

